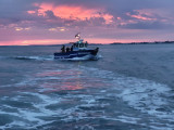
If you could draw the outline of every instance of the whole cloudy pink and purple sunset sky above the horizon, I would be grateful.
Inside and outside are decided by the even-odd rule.
[[[0,46],[174,40],[174,0],[0,0]]]

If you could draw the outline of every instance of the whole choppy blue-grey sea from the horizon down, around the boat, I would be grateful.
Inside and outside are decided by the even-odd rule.
[[[174,130],[174,44],[0,47],[0,130]]]

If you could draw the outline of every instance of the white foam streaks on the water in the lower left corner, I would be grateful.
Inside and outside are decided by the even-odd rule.
[[[0,112],[0,114],[11,115],[16,118],[20,118],[21,120],[14,120],[13,122],[7,126],[3,126],[1,128],[7,129],[7,128],[25,126],[25,128],[30,129],[30,128],[36,128],[36,126],[42,126],[42,125],[52,122],[52,121],[45,121],[40,117],[51,117],[58,114],[58,110],[47,109],[46,106],[51,105],[51,104],[59,104],[60,102],[59,98],[52,99],[44,94],[30,93],[30,92],[23,92],[23,94],[34,95],[41,100],[41,102],[39,103],[35,103],[35,102],[32,103],[33,106],[38,110],[28,109],[28,108],[17,108],[17,107],[9,106],[9,105],[3,105],[3,107],[17,108],[18,112],[17,113]],[[20,101],[21,99],[22,99],[22,95],[15,96],[13,99],[8,99],[8,100]],[[61,115],[61,113],[59,114]]]

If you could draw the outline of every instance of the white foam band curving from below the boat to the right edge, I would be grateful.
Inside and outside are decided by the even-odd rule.
[[[112,90],[116,90],[116,96],[125,101],[130,107],[161,119],[174,120],[174,113],[172,110],[157,110],[170,104],[165,96],[170,95],[171,88],[166,84],[146,79],[125,77],[98,68],[80,68],[88,73],[92,72],[92,76],[103,78],[104,82],[110,82],[110,86],[112,86],[110,88],[110,95],[113,95],[111,93]]]

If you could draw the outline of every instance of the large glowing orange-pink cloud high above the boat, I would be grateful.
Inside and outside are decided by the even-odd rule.
[[[75,21],[86,21],[94,17],[102,17],[105,21],[105,24],[110,24],[113,21],[113,16],[109,13],[105,13],[103,9],[86,9],[84,6],[70,6],[70,5],[53,5],[50,3],[41,3],[39,6],[38,15],[46,16],[47,11],[52,11],[53,14],[58,17],[65,20],[75,20]],[[32,11],[29,14],[34,13]]]

